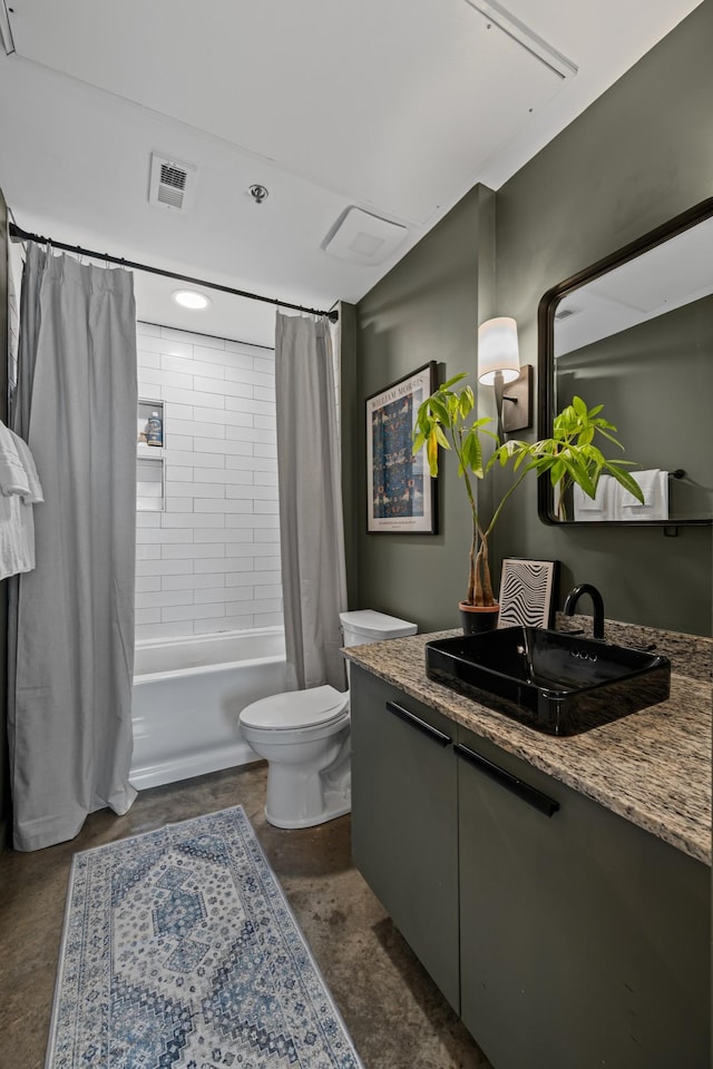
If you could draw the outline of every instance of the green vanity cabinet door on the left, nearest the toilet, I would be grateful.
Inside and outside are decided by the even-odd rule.
[[[351,666],[354,862],[459,1009],[453,725]]]

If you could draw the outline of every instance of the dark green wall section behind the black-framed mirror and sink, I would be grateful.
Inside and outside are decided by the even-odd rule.
[[[518,321],[521,359],[537,361],[546,290],[711,195],[711,41],[706,0],[498,190],[498,305]],[[652,416],[666,414],[662,395]],[[696,435],[690,423],[677,430]],[[547,528],[535,520],[535,487],[524,489],[499,530],[502,556],[559,558],[563,588],[594,582],[614,619],[711,634],[710,527],[677,538]]]

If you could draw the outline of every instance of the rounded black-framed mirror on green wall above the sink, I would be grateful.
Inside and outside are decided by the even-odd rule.
[[[538,312],[538,437],[575,395],[617,428],[644,503],[603,475],[593,501],[555,500],[548,523],[713,522],[713,197],[549,290]]]

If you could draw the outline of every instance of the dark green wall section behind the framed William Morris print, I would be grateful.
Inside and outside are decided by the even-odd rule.
[[[420,629],[452,626],[466,596],[467,502],[447,464],[438,486],[440,533],[367,534],[364,400],[430,360],[438,362],[439,381],[473,370],[478,308],[487,307],[487,318],[494,307],[492,243],[494,194],[477,187],[359,305],[358,390],[350,413],[359,582],[351,607],[391,612]]]

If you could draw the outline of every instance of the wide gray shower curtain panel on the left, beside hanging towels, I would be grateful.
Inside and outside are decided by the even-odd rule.
[[[12,429],[35,457],[37,567],[11,580],[14,846],[125,813],[136,546],[136,312],[126,271],[28,246]]]

